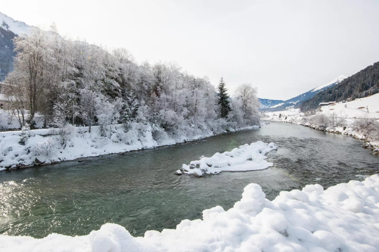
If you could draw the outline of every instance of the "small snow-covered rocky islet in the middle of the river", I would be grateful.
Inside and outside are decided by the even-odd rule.
[[[189,165],[183,164],[182,168],[175,174],[218,174],[221,171],[252,171],[263,170],[273,163],[267,162],[265,154],[273,149],[277,149],[275,143],[263,143],[258,141],[250,145],[241,145],[232,151],[224,153],[217,152],[212,157],[200,157],[200,160],[191,161]]]

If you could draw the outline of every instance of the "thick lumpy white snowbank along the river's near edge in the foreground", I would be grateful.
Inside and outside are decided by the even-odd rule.
[[[133,237],[117,224],[104,224],[85,236],[0,235],[0,250],[374,252],[379,250],[379,176],[326,190],[307,185],[282,191],[273,201],[259,185],[249,184],[233,208],[204,210],[202,220],[183,220],[176,229]]]

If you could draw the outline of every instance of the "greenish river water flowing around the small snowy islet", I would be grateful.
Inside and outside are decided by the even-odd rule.
[[[183,163],[202,155],[260,140],[279,146],[268,154],[274,167],[200,178],[174,175]],[[362,180],[379,170],[379,156],[372,153],[351,137],[271,122],[260,129],[124,155],[3,171],[0,234],[86,235],[112,222],[141,236],[146,230],[175,228],[183,219],[201,218],[202,210],[216,205],[227,210],[241,199],[249,183],[259,184],[272,200],[282,190],[307,184],[327,188]]]

